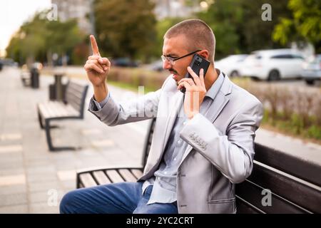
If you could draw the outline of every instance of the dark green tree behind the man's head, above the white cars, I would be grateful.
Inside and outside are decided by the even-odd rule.
[[[263,21],[263,4],[272,6],[272,21]],[[280,16],[290,15],[287,0],[215,0],[198,17],[215,33],[215,59],[235,53],[249,53],[264,48],[277,48],[272,31]]]

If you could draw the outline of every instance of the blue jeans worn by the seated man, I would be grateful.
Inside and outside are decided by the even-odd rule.
[[[177,214],[177,204],[147,204],[153,185],[142,195],[143,182],[121,182],[68,192],[60,203],[61,214]]]

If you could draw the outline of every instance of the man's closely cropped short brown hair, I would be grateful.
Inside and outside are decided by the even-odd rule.
[[[196,49],[208,50],[208,60],[214,62],[215,56],[215,36],[212,28],[200,19],[188,19],[181,21],[175,26],[168,29],[164,38],[172,38],[175,36],[184,35],[188,43],[186,48],[188,51]]]

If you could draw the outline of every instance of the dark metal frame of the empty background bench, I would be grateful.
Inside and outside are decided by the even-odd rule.
[[[67,87],[66,87],[66,94],[71,93],[69,90],[71,88],[71,85],[73,86],[79,86],[81,88],[81,98],[79,101],[80,105],[78,107],[78,112],[77,115],[64,115],[64,116],[53,116],[51,118],[46,118],[44,117],[43,113],[41,113],[41,109],[39,108],[41,103],[37,104],[37,113],[38,113],[38,120],[39,120],[39,125],[41,129],[44,129],[46,132],[46,140],[49,146],[50,151],[59,151],[59,150],[76,150],[76,147],[55,147],[52,143],[51,139],[51,128],[56,128],[57,126],[50,125],[52,120],[68,120],[68,119],[83,119],[83,108],[85,105],[85,100],[86,100],[86,94],[88,90],[88,85],[79,85],[78,83],[74,81],[68,81]],[[69,100],[68,96],[64,98],[63,102],[60,102],[63,105],[68,105],[68,103],[71,103],[71,100]],[[44,123],[43,123],[44,120]]]

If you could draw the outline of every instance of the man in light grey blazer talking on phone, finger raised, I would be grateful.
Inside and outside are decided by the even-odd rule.
[[[131,103],[113,99],[106,83],[111,63],[101,58],[93,36],[91,43],[93,56],[84,66],[94,90],[89,111],[110,126],[157,117],[156,126],[138,182],[68,192],[61,212],[235,213],[235,183],[253,169],[263,107],[215,69],[210,27],[190,19],[170,28],[162,58],[171,75],[160,90]],[[205,77],[188,67],[194,53],[210,61]],[[193,79],[184,78],[187,71]]]

